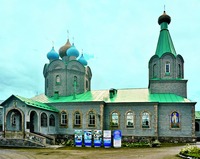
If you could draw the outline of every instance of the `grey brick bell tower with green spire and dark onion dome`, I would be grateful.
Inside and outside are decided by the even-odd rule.
[[[158,18],[160,35],[155,55],[149,60],[149,90],[151,93],[173,93],[187,97],[184,79],[184,59],[176,53],[168,25],[171,17],[164,11]]]

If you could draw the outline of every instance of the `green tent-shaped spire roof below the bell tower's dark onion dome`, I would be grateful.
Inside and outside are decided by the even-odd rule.
[[[156,48],[156,55],[160,58],[164,53],[172,53],[176,56],[176,51],[169,30],[167,29],[168,24],[166,22],[161,23],[161,31],[158,39]]]

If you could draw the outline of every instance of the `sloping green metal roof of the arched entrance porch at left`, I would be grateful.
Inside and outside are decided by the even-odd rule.
[[[47,104],[38,102],[38,101],[34,101],[32,99],[28,99],[28,98],[24,98],[18,95],[14,95],[16,98],[18,98],[19,100],[21,100],[22,102],[26,103],[28,106],[31,107],[35,107],[35,108],[39,108],[39,109],[44,109],[44,110],[48,110],[48,111],[52,111],[52,112],[59,112],[58,109],[56,109],[55,107],[51,107]]]

